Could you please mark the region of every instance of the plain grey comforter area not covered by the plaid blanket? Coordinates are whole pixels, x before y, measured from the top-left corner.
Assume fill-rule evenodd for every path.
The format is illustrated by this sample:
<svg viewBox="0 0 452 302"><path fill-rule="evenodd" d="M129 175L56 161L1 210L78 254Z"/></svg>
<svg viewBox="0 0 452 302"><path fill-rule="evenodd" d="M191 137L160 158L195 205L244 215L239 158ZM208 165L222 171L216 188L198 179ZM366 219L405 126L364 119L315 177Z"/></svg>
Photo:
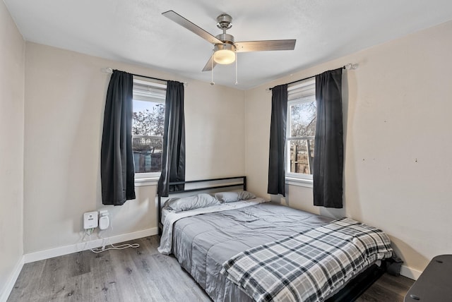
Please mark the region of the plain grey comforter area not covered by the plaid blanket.
<svg viewBox="0 0 452 302"><path fill-rule="evenodd" d="M213 301L252 301L220 273L222 264L243 250L332 220L269 202L184 217L174 222L172 253Z"/></svg>

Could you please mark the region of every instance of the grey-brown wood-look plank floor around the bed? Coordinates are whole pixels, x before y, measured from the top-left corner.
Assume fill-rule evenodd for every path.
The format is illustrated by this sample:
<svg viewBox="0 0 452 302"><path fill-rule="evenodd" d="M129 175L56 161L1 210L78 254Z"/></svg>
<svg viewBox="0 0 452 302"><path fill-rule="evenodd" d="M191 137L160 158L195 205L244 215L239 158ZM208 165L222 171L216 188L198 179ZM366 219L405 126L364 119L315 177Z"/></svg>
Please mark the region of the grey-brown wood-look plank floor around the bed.
<svg viewBox="0 0 452 302"><path fill-rule="evenodd" d="M11 291L16 301L211 301L173 256L158 253L158 236L139 248L89 250L27 263ZM413 281L384 274L357 302L402 302Z"/></svg>

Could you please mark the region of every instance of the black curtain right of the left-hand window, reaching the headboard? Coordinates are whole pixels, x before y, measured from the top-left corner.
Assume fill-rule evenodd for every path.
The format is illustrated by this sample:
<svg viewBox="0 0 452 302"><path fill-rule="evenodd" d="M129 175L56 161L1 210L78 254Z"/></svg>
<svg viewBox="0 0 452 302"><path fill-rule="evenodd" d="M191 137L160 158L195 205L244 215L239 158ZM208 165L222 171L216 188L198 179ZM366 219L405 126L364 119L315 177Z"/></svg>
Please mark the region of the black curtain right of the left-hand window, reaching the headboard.
<svg viewBox="0 0 452 302"><path fill-rule="evenodd" d="M168 196L169 192L184 188L183 185L169 186L174 181L185 181L184 84L169 80L165 101L162 174L157 193Z"/></svg>

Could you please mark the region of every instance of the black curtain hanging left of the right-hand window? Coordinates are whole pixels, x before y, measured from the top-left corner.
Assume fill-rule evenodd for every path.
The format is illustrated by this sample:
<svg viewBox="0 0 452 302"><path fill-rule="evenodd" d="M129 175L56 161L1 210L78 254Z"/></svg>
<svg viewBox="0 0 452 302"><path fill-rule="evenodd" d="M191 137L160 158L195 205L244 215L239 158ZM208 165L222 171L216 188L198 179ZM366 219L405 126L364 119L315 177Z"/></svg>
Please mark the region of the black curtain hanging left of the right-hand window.
<svg viewBox="0 0 452 302"><path fill-rule="evenodd" d="M268 157L269 194L285 196L285 141L287 121L287 85L272 88L270 152Z"/></svg>

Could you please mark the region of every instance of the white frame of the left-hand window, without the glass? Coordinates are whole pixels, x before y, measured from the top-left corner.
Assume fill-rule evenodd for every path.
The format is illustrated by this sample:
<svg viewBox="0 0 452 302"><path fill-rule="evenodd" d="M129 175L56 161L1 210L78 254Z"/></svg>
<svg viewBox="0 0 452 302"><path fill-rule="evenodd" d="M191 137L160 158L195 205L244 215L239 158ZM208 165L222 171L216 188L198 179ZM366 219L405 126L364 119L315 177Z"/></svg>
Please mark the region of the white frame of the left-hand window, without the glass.
<svg viewBox="0 0 452 302"><path fill-rule="evenodd" d="M157 81L157 80L150 80L148 78L136 78L133 77L133 99L134 101L141 101L141 102L153 102L157 104L164 104L165 105L165 97L162 99L159 95L153 94L152 92L149 93L149 95L146 95L145 92L138 92L135 89L135 84L141 85L141 86L148 86L151 90L165 90L165 96L166 96L166 89L167 84L164 81ZM132 138L133 138L132 134ZM138 135L139 136L139 135ZM160 135L153 135L153 136L160 136ZM163 138L163 135L162 135ZM160 179L160 175L162 174L162 171L158 172L144 172L144 173L137 173L135 172L135 186L149 186L157 184L158 179Z"/></svg>

